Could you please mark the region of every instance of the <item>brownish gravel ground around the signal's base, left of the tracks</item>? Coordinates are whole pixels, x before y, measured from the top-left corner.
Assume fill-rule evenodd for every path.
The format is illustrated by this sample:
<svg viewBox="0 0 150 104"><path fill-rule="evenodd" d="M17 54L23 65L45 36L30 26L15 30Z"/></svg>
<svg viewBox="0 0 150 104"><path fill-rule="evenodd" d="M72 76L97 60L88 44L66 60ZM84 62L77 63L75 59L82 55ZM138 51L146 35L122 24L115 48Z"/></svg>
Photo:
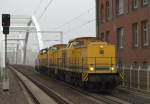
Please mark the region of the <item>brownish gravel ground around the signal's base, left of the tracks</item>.
<svg viewBox="0 0 150 104"><path fill-rule="evenodd" d="M0 87L0 104L28 104L28 101L19 85L17 77L9 70L10 90L3 92Z"/></svg>

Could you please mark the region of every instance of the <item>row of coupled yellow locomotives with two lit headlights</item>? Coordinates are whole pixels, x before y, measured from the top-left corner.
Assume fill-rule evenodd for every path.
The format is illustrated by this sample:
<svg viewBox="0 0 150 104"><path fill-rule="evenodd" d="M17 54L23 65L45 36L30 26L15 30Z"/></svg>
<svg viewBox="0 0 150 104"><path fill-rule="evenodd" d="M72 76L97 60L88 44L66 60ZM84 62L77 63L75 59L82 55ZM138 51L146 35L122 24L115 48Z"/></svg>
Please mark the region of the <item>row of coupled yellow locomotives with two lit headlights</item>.
<svg viewBox="0 0 150 104"><path fill-rule="evenodd" d="M116 69L115 45L97 40L95 37L80 37L64 44L54 45L39 60L47 67L50 76L68 83L92 89L113 89L121 82ZM43 63L42 63L43 61Z"/></svg>

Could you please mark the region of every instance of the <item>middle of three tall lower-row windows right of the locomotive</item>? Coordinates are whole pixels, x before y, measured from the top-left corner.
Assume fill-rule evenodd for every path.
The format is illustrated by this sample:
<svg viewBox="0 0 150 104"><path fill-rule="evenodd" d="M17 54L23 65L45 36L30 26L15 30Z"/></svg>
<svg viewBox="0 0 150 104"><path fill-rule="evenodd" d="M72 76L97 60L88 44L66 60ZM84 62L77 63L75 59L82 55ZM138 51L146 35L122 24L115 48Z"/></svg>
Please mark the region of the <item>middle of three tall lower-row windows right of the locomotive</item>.
<svg viewBox="0 0 150 104"><path fill-rule="evenodd" d="M132 34L133 34L133 46L138 47L139 43L138 23L132 25Z"/></svg>

